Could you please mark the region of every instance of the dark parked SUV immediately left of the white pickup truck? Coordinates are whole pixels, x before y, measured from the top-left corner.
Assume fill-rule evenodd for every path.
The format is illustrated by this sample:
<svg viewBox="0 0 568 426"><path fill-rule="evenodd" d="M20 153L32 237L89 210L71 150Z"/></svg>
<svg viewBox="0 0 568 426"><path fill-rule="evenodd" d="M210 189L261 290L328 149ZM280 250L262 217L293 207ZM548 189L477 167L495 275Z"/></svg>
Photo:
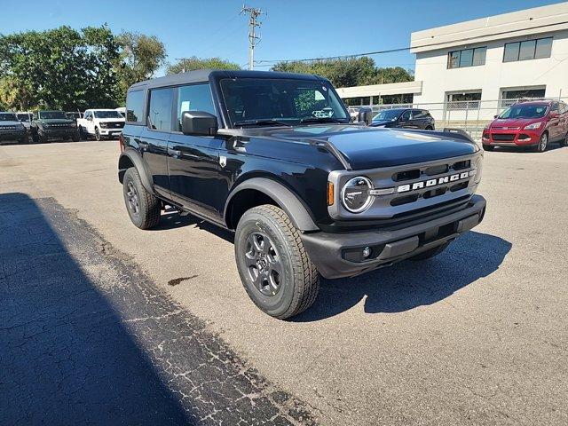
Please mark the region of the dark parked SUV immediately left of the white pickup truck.
<svg viewBox="0 0 568 426"><path fill-rule="evenodd" d="M36 111L30 131L34 142L47 142L49 138L79 141L75 121L63 111Z"/></svg>

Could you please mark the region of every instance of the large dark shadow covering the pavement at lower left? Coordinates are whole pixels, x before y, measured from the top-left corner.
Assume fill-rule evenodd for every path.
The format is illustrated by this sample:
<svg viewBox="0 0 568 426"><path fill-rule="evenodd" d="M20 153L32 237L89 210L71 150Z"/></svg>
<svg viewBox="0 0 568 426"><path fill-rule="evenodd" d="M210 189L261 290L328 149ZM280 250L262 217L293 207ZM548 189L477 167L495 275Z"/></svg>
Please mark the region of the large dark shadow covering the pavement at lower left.
<svg viewBox="0 0 568 426"><path fill-rule="evenodd" d="M53 226L66 218L50 223L43 207L0 194L0 422L187 424L190 414L59 239Z"/></svg>

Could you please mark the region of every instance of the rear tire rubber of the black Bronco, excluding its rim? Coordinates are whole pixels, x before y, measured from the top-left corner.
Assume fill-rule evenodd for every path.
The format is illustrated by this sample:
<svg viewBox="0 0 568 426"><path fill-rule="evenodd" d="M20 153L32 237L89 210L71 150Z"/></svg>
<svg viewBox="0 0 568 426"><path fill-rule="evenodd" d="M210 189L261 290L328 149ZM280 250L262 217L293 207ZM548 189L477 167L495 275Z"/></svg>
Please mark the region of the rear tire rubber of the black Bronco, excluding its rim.
<svg viewBox="0 0 568 426"><path fill-rule="evenodd" d="M131 184L131 185L130 185ZM133 209L129 191L136 191L138 212ZM130 220L140 229L151 229L160 223L162 203L152 193L148 193L138 174L138 170L130 167L124 173L122 180L122 194Z"/></svg>

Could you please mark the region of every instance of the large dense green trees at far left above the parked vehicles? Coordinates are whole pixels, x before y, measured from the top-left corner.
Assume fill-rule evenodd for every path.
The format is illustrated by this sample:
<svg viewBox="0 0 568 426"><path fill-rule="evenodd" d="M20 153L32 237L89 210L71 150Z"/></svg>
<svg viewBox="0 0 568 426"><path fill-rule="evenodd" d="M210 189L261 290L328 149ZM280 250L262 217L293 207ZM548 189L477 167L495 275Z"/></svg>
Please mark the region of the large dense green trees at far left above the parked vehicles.
<svg viewBox="0 0 568 426"><path fill-rule="evenodd" d="M114 106L117 58L106 26L0 36L0 99L14 109Z"/></svg>

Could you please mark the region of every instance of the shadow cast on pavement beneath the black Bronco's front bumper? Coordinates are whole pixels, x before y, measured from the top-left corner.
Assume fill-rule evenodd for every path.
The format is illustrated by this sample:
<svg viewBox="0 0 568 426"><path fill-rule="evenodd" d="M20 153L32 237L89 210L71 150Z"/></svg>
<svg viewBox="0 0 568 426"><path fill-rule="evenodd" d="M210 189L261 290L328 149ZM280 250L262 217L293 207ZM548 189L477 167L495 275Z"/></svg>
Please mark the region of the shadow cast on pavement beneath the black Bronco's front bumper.
<svg viewBox="0 0 568 426"><path fill-rule="evenodd" d="M315 303L292 320L333 317L363 299L366 313L405 312L436 304L495 272L511 247L500 237L470 231L426 261L404 261L351 279L322 280Z"/></svg>

